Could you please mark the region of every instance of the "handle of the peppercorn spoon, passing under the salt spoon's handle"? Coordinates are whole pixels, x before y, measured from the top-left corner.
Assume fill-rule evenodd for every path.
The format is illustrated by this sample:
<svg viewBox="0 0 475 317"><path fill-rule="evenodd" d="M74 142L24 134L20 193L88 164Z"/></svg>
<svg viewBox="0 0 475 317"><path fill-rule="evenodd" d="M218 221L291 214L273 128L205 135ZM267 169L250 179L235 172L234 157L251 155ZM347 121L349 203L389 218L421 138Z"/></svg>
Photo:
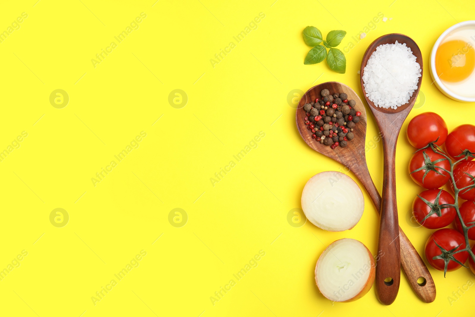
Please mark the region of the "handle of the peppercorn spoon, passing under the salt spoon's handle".
<svg viewBox="0 0 475 317"><path fill-rule="evenodd" d="M349 166L349 168L363 184L364 188L370 195L376 210L380 212L381 196L371 179L368 166L366 164L358 164L357 166ZM421 259L404 231L402 231L401 227L399 227L399 243L401 249L401 268L409 281L409 285L420 300L424 303L432 303L436 299L436 286L434 279L432 279L426 264ZM424 278L425 283L422 281L418 284L419 278Z"/></svg>

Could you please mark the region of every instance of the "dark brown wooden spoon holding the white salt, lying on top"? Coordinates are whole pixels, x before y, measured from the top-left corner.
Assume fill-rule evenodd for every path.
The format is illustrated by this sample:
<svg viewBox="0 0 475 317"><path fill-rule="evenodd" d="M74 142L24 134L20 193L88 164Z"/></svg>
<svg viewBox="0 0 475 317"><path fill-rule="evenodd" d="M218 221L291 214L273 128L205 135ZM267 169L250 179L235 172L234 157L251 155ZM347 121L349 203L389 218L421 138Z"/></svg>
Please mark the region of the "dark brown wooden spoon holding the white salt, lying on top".
<svg viewBox="0 0 475 317"><path fill-rule="evenodd" d="M404 120L409 115L414 102L419 93L420 84L422 81L419 77L416 91L412 94L409 102L399 106L397 109L385 109L375 106L374 103L366 96L366 91L363 85L364 67L366 66L371 54L381 44L406 43L416 57L416 61L422 67L422 55L419 47L412 38L403 34L387 34L374 40L366 49L363 56L360 69L361 89L365 96L366 102L370 106L376 123L380 128L383 154L384 154L384 175L383 175L383 190L380 216L380 232L378 242L378 252L382 252L384 256L377 259L376 263L376 288L378 291L378 298L385 305L390 305L396 299L399 290L399 263L400 250L399 240L400 234L398 230L398 205L396 200L396 143L398 141L399 131L404 123ZM386 70L388 71L388 70ZM426 268L427 269L427 268ZM427 279L426 279L427 280Z"/></svg>

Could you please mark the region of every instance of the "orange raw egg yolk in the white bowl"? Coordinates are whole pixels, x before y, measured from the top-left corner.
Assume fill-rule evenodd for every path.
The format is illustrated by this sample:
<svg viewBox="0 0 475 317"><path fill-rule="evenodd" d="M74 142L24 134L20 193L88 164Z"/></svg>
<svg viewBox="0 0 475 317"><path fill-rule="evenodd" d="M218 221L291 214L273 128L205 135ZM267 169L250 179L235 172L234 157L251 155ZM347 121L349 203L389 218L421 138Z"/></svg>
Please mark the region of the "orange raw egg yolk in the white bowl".
<svg viewBox="0 0 475 317"><path fill-rule="evenodd" d="M448 82L459 82L472 74L475 68L475 50L470 43L455 39L437 48L437 76Z"/></svg>

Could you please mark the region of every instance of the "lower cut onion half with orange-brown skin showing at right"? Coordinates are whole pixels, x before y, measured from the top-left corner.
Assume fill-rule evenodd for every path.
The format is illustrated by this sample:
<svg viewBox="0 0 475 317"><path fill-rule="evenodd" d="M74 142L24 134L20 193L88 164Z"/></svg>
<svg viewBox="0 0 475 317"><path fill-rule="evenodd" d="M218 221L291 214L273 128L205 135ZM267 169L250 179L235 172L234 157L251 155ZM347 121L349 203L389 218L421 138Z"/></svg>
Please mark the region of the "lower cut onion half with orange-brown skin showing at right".
<svg viewBox="0 0 475 317"><path fill-rule="evenodd" d="M335 302L363 297L373 285L376 263L370 250L358 240L336 240L326 248L315 267L320 293Z"/></svg>

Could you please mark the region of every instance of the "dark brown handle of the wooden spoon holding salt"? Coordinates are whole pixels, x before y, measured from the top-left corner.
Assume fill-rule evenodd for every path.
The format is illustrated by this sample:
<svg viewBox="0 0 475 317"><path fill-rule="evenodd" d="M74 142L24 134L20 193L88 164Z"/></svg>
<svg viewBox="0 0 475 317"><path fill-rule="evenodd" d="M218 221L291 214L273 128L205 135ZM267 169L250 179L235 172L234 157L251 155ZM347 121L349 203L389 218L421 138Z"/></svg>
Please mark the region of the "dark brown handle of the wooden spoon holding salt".
<svg viewBox="0 0 475 317"><path fill-rule="evenodd" d="M390 305L398 295L401 265L396 202L396 142L387 141L383 137L383 152L383 192L375 283L381 303Z"/></svg>

